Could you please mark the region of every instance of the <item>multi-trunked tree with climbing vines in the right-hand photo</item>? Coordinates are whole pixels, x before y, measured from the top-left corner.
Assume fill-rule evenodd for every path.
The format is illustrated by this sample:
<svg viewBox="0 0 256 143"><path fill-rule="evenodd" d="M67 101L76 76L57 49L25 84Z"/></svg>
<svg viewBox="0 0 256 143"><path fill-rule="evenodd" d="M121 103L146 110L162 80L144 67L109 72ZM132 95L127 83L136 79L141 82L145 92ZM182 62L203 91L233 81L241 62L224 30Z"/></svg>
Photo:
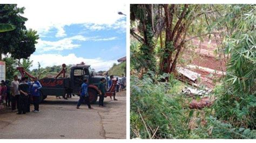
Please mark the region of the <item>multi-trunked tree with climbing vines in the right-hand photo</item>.
<svg viewBox="0 0 256 143"><path fill-rule="evenodd" d="M172 73L181 51L190 46L188 41L218 33L215 31L220 29L207 24L210 18L215 18L220 8L220 5L208 4L131 5L130 31L132 37L142 44L137 53L144 62L142 67L155 71L157 60L160 73ZM160 49L156 54L159 38Z"/></svg>

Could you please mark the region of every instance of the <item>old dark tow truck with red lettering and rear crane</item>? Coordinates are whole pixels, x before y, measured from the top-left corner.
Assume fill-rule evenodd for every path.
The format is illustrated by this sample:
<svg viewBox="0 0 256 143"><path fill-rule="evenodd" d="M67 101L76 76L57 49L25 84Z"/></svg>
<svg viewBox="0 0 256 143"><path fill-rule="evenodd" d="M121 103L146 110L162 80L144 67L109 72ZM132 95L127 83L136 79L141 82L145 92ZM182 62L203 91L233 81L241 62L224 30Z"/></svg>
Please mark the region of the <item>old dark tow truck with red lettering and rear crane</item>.
<svg viewBox="0 0 256 143"><path fill-rule="evenodd" d="M17 67L17 70L19 71L19 73L21 73L22 77L24 77L25 75L30 78L35 77L25 71L23 67ZM38 80L42 85L42 88L40 89L40 102L47 98L47 96L64 96L68 93L79 96L80 87L83 83L83 79L86 78L89 83L88 93L90 103L96 103L99 96L98 84L100 82L100 79L103 77L104 76L94 76L90 65L85 65L84 62L72 66L70 69L70 76L66 77L66 65L63 63L62 70L59 71L56 77L45 77ZM107 78L104 78L107 81ZM116 89L116 85L117 81L112 80L112 85L107 90L105 97L113 96L115 94L114 90Z"/></svg>

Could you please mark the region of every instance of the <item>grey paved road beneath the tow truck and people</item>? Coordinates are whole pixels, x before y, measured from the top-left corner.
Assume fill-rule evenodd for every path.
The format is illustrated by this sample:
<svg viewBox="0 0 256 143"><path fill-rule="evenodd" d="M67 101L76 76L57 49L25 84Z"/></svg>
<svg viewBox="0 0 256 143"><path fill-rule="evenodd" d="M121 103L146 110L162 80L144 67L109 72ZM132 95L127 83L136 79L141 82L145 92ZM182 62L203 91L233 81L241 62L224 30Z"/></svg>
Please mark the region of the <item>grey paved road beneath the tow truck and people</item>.
<svg viewBox="0 0 256 143"><path fill-rule="evenodd" d="M39 113L0 114L0 139L125 139L126 96L118 101L104 99L106 108L86 105L76 109L79 97L63 100L49 96L39 106ZM33 106L31 106L31 109Z"/></svg>

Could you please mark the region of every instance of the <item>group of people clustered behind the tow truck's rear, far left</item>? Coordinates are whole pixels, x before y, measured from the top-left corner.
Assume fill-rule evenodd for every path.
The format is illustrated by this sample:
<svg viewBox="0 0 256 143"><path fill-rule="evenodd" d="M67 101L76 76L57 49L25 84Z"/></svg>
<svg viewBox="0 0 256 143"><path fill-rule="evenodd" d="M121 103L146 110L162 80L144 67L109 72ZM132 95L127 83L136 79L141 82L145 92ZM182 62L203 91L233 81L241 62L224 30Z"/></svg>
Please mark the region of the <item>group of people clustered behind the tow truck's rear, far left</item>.
<svg viewBox="0 0 256 143"><path fill-rule="evenodd" d="M15 75L10 85L8 80L1 81L0 103L3 104L4 108L17 112L17 115L30 112L31 103L34 105L32 112L39 112L40 88L42 88L42 85L37 77L33 77L30 81L29 77L19 79Z"/></svg>

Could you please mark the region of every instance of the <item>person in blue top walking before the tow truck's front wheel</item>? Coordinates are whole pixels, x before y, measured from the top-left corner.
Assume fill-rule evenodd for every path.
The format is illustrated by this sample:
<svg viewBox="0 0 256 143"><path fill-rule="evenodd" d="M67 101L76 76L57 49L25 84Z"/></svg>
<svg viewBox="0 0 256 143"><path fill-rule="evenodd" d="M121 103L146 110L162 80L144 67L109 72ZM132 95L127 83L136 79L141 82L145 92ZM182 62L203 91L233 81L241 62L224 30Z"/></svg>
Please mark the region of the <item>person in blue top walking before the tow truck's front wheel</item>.
<svg viewBox="0 0 256 143"><path fill-rule="evenodd" d="M82 104L83 101L85 101L85 103L88 105L89 109L93 109L91 107L90 101L89 101L89 94L88 94L88 85L87 85L87 79L85 78L84 83L81 86L81 92L80 92L80 98L79 101L77 103L77 109L80 109L79 106Z"/></svg>

